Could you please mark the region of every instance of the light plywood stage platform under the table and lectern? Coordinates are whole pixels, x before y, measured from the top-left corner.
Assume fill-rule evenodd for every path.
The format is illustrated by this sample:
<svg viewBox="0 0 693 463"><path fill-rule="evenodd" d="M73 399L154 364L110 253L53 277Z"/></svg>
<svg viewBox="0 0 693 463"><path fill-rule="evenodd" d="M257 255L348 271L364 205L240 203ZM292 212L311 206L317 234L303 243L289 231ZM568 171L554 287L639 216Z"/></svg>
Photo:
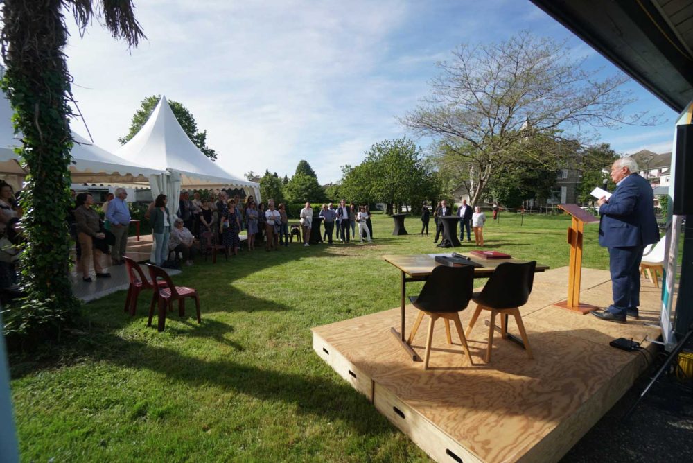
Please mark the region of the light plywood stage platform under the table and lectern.
<svg viewBox="0 0 693 463"><path fill-rule="evenodd" d="M399 308L313 329L313 349L376 409L439 462L554 462L633 385L649 365L649 352L626 352L608 342L645 335L657 338L660 290L642 280L640 320L627 324L598 320L552 304L565 299L568 268L538 273L527 305L520 308L534 360L496 333L491 363L484 363L489 312L468 337L469 365L453 328L447 344L444 324L433 336L429 370L412 362L390 327ZM392 288L397 292L398 288ZM608 306L606 270L583 269L581 302ZM466 328L475 308L460 314ZM416 309L407 306L407 335ZM496 321L498 323L498 320ZM428 320L414 339L423 357ZM517 333L514 321L509 331Z"/></svg>

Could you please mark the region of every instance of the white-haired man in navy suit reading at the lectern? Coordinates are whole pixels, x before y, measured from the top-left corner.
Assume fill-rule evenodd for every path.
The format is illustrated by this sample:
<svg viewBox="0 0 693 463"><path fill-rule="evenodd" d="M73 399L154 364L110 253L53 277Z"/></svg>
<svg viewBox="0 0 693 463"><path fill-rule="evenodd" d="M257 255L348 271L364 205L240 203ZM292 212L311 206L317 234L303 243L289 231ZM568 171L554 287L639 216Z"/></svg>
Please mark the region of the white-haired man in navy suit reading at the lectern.
<svg viewBox="0 0 693 463"><path fill-rule="evenodd" d="M611 178L617 185L611 198L600 198L599 245L608 247L613 304L592 315L610 322L638 318L640 261L646 245L659 241L652 186L638 175L630 157L617 159Z"/></svg>

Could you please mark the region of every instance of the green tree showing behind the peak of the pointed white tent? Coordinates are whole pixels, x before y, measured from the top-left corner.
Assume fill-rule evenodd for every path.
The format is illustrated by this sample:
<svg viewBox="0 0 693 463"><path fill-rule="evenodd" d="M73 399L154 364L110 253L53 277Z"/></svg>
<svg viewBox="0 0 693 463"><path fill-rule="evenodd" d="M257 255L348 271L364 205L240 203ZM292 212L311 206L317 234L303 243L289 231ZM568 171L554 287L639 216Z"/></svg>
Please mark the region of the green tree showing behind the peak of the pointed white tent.
<svg viewBox="0 0 693 463"><path fill-rule="evenodd" d="M137 132L139 132L142 126L147 123L149 116L151 116L152 112L154 112L155 108L159 104L159 100L161 100L161 95L148 96L142 100L139 109L135 111L134 116L132 116L130 132L128 132L125 137L118 139L118 141L121 142L121 145L128 143L132 137L137 135ZM198 130L198 123L195 122L193 114L188 111L188 108L182 105L182 103L168 100L168 104L173 111L175 119L178 121L190 141L192 141L193 144L197 146L205 156L209 157L209 159L212 161L216 161L216 151L207 146L207 130L203 130L202 132Z"/></svg>

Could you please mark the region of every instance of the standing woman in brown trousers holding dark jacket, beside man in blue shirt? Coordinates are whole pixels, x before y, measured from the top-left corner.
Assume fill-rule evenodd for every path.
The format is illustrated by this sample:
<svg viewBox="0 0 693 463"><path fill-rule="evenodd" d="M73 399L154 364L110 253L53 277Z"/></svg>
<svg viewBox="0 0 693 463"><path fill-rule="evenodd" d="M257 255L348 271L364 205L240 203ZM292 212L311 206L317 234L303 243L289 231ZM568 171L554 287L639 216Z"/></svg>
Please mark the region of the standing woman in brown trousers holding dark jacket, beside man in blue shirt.
<svg viewBox="0 0 693 463"><path fill-rule="evenodd" d="M77 222L77 239L82 247L82 281L91 283L89 277L89 261L94 262L96 278L108 278L111 274L101 268L101 251L94 247L94 240L103 240L105 235L100 231L98 213L91 209L94 198L89 193L77 195L75 203L75 220Z"/></svg>

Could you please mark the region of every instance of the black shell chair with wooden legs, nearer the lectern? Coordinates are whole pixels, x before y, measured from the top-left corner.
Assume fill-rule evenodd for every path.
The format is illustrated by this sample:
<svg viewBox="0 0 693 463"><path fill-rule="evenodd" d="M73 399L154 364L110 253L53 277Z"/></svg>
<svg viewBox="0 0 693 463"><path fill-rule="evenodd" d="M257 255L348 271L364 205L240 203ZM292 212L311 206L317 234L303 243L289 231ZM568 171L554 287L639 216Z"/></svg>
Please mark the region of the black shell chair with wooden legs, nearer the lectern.
<svg viewBox="0 0 693 463"><path fill-rule="evenodd" d="M504 262L495 268L491 278L486 282L481 292L475 292L472 300L477 308L469 320L466 335L471 333L474 324L482 310L491 311L491 323L489 328L489 344L486 347L486 363L491 362L491 349L493 348L493 331L495 331L495 315L500 313L500 332L503 339L508 337L507 315L513 315L520 330L527 355L532 358L532 349L529 347L525 325L520 316L520 306L527 303L529 293L532 292L534 283L534 269L536 261L527 263Z"/></svg>

